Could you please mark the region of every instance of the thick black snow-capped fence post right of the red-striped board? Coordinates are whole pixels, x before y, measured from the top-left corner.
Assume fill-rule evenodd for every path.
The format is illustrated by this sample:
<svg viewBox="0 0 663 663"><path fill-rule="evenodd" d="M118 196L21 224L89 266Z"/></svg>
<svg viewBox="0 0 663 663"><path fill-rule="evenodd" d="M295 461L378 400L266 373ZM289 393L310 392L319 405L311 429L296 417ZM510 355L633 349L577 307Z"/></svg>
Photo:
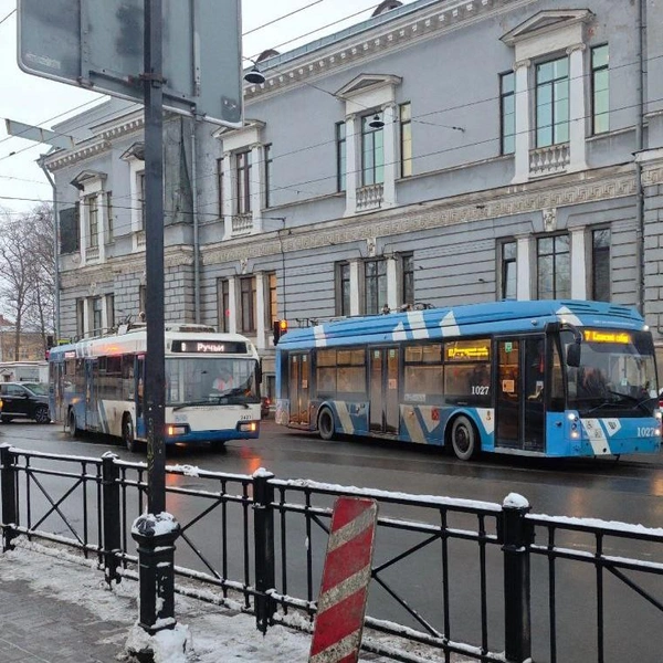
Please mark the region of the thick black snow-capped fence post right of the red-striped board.
<svg viewBox="0 0 663 663"><path fill-rule="evenodd" d="M523 663L532 653L529 546L534 528L525 520L529 503L511 493L502 505L504 554L504 641L508 663Z"/></svg>

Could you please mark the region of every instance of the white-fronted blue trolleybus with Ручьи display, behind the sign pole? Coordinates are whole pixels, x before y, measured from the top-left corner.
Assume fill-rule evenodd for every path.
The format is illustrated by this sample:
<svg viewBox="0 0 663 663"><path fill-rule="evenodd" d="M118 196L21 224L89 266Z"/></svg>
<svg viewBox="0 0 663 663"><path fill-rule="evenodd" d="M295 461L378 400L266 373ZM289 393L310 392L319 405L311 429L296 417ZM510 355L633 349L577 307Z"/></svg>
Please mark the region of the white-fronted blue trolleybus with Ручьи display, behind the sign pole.
<svg viewBox="0 0 663 663"><path fill-rule="evenodd" d="M166 327L166 444L257 438L260 364L253 344L202 325ZM71 436L82 431L147 440L145 325L52 348L50 410Z"/></svg>

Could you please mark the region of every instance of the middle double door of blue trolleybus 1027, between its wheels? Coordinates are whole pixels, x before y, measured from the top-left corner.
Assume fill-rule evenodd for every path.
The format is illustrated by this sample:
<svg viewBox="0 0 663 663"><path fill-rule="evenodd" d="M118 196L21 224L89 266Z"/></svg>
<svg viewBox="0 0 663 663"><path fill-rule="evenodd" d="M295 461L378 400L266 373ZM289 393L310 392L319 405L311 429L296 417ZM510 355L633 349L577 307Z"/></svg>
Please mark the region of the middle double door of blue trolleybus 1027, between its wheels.
<svg viewBox="0 0 663 663"><path fill-rule="evenodd" d="M370 430L398 434L398 348L370 349Z"/></svg>

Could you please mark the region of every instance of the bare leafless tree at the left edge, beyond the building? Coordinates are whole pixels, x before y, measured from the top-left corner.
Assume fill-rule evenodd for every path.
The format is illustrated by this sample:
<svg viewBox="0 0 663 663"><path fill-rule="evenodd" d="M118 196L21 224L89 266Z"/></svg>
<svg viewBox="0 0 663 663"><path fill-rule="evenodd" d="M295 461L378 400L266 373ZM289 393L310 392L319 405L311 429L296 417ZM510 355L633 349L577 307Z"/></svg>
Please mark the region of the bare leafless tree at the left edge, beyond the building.
<svg viewBox="0 0 663 663"><path fill-rule="evenodd" d="M42 203L31 212L0 214L0 301L14 319L14 357L22 332L40 332L44 349L54 328L53 213Z"/></svg>

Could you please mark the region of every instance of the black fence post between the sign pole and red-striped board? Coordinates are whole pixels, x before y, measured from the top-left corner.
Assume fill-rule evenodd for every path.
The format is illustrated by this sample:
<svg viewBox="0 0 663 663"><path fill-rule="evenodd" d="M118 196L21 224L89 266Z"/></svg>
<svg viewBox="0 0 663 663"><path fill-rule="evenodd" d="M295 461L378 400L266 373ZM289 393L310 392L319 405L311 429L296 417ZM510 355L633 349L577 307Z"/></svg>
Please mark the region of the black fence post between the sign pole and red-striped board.
<svg viewBox="0 0 663 663"><path fill-rule="evenodd" d="M271 472L253 474L253 540L255 543L255 625L261 633L272 625L275 601L267 594L274 589L274 486Z"/></svg>

